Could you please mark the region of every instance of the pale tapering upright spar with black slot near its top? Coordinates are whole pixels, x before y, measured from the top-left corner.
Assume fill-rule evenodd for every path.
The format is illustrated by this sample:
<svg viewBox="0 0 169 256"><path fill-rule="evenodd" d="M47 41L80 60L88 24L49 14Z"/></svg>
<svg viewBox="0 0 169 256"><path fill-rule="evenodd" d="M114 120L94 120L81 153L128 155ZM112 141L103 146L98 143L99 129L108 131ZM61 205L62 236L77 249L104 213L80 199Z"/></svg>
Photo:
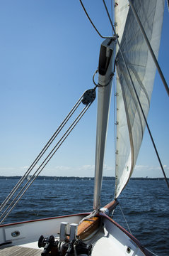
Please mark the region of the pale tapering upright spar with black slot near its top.
<svg viewBox="0 0 169 256"><path fill-rule="evenodd" d="M107 124L110 110L110 95L112 90L112 65L115 63L115 40L106 39L100 47L98 65L98 114L95 146L95 186L93 208L100 208L100 192L103 179L103 161Z"/></svg>

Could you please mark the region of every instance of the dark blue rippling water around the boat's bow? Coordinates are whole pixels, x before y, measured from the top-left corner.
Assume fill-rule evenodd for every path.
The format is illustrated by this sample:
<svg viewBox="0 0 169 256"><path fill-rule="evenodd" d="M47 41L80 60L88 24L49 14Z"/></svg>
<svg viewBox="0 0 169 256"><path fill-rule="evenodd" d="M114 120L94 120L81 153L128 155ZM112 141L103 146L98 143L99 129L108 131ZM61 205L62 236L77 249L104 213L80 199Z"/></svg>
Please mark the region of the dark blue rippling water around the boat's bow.
<svg viewBox="0 0 169 256"><path fill-rule="evenodd" d="M0 179L0 203L17 181ZM93 184L93 179L36 180L4 223L91 212ZM102 206L113 200L114 188L115 181L103 180ZM169 191L165 181L131 180L119 202L113 219L127 230L129 225L132 235L148 250L169 255Z"/></svg>

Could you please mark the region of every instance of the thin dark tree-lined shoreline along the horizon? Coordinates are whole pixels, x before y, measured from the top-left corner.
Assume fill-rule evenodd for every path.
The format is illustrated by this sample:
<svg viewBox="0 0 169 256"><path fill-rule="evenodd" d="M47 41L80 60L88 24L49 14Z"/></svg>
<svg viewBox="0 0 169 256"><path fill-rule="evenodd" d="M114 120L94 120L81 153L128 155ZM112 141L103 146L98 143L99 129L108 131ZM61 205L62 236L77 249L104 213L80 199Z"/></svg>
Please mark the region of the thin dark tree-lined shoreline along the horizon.
<svg viewBox="0 0 169 256"><path fill-rule="evenodd" d="M30 176L31 177L31 176ZM21 176L0 176L0 179L20 179ZM76 176L38 176L38 180L94 180L94 177L76 177ZM131 180L164 180L164 178L144 178L144 177L136 177L136 178L130 178ZM103 180L115 180L115 177L110 176L103 176Z"/></svg>

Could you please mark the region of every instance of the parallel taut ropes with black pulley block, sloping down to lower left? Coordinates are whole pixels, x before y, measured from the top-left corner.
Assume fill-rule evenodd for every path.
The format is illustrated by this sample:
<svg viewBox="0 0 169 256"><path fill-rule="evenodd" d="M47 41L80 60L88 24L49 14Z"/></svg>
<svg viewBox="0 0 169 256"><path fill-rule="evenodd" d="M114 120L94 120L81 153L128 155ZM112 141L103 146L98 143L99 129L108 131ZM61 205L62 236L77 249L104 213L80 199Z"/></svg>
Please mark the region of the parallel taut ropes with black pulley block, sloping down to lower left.
<svg viewBox="0 0 169 256"><path fill-rule="evenodd" d="M66 118L64 119L64 121L62 122L62 124L60 124L60 126L58 127L58 129L56 130L56 132L54 132L54 134L52 135L52 137L49 139L49 141L47 142L47 144L45 144L44 148L42 149L42 151L40 151L40 154L38 154L37 158L35 159L35 161L33 161L33 164L30 165L29 169L25 172L25 174L23 175L23 177L18 181L18 183L16 184L16 186L12 189L11 193L8 194L8 196L6 197L6 199L4 200L3 203L1 203L0 206L0 212L6 207L6 209L4 210L4 213L1 214L0 216L0 224L2 224L4 222L4 220L6 219L6 217L9 215L9 213L11 213L11 210L13 210L13 208L16 206L16 204L18 203L18 201L20 201L20 199L22 198L22 196L25 194L25 192L28 190L28 188L30 187L30 185L33 183L33 181L35 181L35 178L37 178L37 176L40 175L40 172L45 168L45 166L47 165L47 163L50 161L50 159L52 159L52 156L54 156L54 154L57 152L57 150L59 149L59 147L62 145L62 143L64 142L64 140L66 139L66 137L69 136L69 134L71 133L71 131L74 129L74 127L76 126L76 124L78 124L78 122L80 121L81 117L83 117L83 114L86 113L86 111L88 110L89 107L91 107L91 104L93 103L93 101L95 100L95 88L97 86L94 87L94 89L91 90L87 90L86 92L83 93L83 95L81 95L81 97L79 98L79 100L76 102L76 104L74 105L74 107L71 109L71 111L69 112L69 114L66 116ZM30 176L30 179L25 183L25 185L21 188L21 185L23 183L23 181L25 181L25 179L28 177L28 175L30 174L31 171L33 171L33 169L36 167L37 163L40 161L40 159L42 158L42 156L45 154L45 152L47 151L47 149L49 148L49 146L52 144L52 142L54 142L54 139L56 139L56 137L59 135L59 133L62 131L62 129L64 128L65 124L69 121L69 119L71 118L71 116L74 114L74 112L76 112L76 110L78 109L78 107L81 105L81 103L83 103L85 105L85 107L83 107L83 109L81 110L81 112L77 115L77 117L74 119L74 121L70 124L69 128L66 129L66 132L64 132L64 135L61 137L61 139L59 139L59 141L55 144L55 146L53 147L53 149L49 152L49 154L47 154L47 156L45 157L45 159L42 161L42 163L40 164L40 166L37 168L37 170L33 173L32 176ZM21 188L21 189L20 189ZM20 191L18 191L20 189ZM16 193L16 191L18 192L17 195L14 197L14 194ZM14 197L14 198L13 198ZM13 200L12 200L13 198ZM11 201L11 203L9 203ZM9 203L9 204L8 204ZM7 206L8 205L8 206Z"/></svg>

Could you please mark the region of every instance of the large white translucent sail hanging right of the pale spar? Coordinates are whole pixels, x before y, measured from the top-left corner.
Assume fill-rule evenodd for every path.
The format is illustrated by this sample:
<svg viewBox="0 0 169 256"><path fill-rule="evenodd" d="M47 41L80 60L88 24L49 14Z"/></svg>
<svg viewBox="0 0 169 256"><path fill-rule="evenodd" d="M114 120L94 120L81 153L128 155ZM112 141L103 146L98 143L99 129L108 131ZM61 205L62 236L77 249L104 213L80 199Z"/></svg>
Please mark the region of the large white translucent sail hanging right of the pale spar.
<svg viewBox="0 0 169 256"><path fill-rule="evenodd" d="M153 63L148 47L141 34L132 9L120 6L128 1L115 1L115 23L119 34L120 46L132 76L136 92L139 96L144 114L147 117L153 80L156 67ZM161 28L163 23L163 0L134 0L134 8L141 20L146 36L158 58ZM126 9L127 18L120 17L119 8ZM123 21L122 21L123 19ZM124 20L125 26L124 26ZM123 28L118 26L122 24ZM141 141L145 129L144 117L141 114L138 100L134 93L132 82L124 66L120 50L117 53L117 143L116 143L116 183L115 198L122 192L129 181L139 154Z"/></svg>

